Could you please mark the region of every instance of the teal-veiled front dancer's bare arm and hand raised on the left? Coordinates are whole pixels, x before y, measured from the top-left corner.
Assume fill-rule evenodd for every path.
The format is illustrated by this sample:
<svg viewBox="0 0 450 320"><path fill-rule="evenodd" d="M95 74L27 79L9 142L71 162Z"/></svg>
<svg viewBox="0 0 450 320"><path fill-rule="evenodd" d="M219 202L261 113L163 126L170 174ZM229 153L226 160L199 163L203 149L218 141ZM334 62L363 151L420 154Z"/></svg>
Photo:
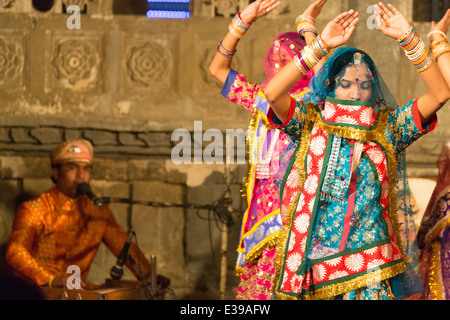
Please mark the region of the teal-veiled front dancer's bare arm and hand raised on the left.
<svg viewBox="0 0 450 320"><path fill-rule="evenodd" d="M321 34L328 50L337 48L346 43L358 23L358 12L350 10L341 13L335 19L327 24ZM289 115L291 98L288 94L289 89L301 78L302 73L297 67L295 61L289 62L280 70L267 84L264 94L269 101L274 113L281 121L285 121Z"/></svg>

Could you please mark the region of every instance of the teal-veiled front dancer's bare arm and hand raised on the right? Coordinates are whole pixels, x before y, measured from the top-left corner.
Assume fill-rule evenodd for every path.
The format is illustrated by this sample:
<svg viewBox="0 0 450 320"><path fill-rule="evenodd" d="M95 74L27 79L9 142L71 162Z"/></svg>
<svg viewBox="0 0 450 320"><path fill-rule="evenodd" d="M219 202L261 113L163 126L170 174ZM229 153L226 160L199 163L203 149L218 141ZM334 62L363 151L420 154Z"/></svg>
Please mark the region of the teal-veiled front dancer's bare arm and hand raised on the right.
<svg viewBox="0 0 450 320"><path fill-rule="evenodd" d="M406 17L397 10L397 8L391 4L388 4L388 7L386 7L381 2L375 5L375 8L375 14L377 15L380 30L383 34L396 40L402 38L409 39L412 35L412 32L408 32L411 28L411 24ZM406 52L408 53L408 51ZM418 51L417 53L420 52ZM426 54L427 53L424 52L424 59L426 59ZM417 100L422 123L427 122L432 116L434 116L450 98L450 90L447 82L433 59L431 59L428 67L425 65L424 68L425 70L419 69L419 71L422 82L426 88L426 93L420 96Z"/></svg>

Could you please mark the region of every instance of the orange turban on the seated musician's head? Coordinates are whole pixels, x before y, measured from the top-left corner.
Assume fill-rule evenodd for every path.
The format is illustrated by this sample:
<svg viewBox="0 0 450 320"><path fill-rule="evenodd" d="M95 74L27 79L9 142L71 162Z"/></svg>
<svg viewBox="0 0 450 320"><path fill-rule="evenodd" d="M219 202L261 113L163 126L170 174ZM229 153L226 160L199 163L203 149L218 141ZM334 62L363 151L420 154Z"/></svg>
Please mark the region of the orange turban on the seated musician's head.
<svg viewBox="0 0 450 320"><path fill-rule="evenodd" d="M52 165L64 162L81 161L92 163L94 148L87 140L69 140L57 145L50 154Z"/></svg>

